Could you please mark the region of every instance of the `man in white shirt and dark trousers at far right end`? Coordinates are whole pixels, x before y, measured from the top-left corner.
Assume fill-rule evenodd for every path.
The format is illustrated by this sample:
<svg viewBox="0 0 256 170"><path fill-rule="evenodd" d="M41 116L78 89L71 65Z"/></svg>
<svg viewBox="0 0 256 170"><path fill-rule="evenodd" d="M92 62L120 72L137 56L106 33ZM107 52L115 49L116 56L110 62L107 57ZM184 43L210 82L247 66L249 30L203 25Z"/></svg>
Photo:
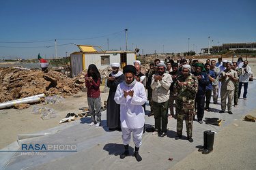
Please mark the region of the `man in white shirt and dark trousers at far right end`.
<svg viewBox="0 0 256 170"><path fill-rule="evenodd" d="M242 74L240 75L239 78L239 89L238 89L238 99L240 98L241 95L241 89L242 89L242 84L244 84L244 95L243 98L244 100L246 99L247 95L247 88L248 88L248 81L251 75L251 67L248 66L248 61L244 61L244 65L241 67Z"/></svg>

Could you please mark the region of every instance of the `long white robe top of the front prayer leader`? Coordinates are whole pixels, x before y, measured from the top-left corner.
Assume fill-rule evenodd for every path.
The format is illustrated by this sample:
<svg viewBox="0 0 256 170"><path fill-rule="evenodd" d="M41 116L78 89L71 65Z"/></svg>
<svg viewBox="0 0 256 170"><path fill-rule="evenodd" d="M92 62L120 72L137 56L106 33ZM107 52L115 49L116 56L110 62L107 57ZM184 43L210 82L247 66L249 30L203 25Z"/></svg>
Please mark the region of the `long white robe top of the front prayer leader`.
<svg viewBox="0 0 256 170"><path fill-rule="evenodd" d="M124 90L134 90L133 97L124 97ZM145 113L142 105L147 101L143 84L137 82L134 86L120 83L117 86L114 100L120 105L120 120L122 128L139 129L144 126Z"/></svg>

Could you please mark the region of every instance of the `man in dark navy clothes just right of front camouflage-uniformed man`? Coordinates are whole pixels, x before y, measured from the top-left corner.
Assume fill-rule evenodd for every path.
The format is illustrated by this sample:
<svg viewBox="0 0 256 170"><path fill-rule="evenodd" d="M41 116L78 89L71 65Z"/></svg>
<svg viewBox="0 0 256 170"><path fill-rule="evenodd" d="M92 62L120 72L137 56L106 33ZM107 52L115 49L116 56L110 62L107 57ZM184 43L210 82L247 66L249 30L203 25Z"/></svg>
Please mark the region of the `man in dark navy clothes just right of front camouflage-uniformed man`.
<svg viewBox="0 0 256 170"><path fill-rule="evenodd" d="M209 84L208 75L205 73L205 69L201 63L195 64L195 72L192 73L198 80L198 91L195 97L195 103L197 105L197 121L203 123L204 103L206 86Z"/></svg>

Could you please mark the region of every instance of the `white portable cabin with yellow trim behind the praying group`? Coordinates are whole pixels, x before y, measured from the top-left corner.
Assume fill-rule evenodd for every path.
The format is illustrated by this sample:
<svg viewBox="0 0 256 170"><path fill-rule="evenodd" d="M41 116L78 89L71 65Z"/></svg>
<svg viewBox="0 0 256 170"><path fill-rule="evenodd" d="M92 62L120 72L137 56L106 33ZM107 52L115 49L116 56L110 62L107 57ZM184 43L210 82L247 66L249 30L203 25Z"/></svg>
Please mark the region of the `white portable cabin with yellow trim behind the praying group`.
<svg viewBox="0 0 256 170"><path fill-rule="evenodd" d="M104 51L100 46L76 45L80 52L70 54L70 63L72 75L78 75L81 71L87 69L90 64L95 64L98 69L105 69L111 63L120 63L123 68L126 65L133 65L136 61L136 49L131 51Z"/></svg>

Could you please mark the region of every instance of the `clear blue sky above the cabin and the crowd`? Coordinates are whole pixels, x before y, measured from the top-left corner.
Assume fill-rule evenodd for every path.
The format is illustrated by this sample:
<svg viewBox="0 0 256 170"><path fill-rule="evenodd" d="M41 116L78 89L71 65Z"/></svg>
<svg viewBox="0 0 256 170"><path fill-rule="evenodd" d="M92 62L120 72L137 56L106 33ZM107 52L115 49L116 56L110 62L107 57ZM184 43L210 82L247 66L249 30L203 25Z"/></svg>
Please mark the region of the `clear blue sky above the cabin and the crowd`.
<svg viewBox="0 0 256 170"><path fill-rule="evenodd" d="M58 57L79 51L74 44L108 50L107 38L109 50L126 50L124 29L128 50L140 54L187 52L188 38L197 52L209 36L210 46L255 42L255 7L255 0L2 0L0 59L55 57L55 39Z"/></svg>

